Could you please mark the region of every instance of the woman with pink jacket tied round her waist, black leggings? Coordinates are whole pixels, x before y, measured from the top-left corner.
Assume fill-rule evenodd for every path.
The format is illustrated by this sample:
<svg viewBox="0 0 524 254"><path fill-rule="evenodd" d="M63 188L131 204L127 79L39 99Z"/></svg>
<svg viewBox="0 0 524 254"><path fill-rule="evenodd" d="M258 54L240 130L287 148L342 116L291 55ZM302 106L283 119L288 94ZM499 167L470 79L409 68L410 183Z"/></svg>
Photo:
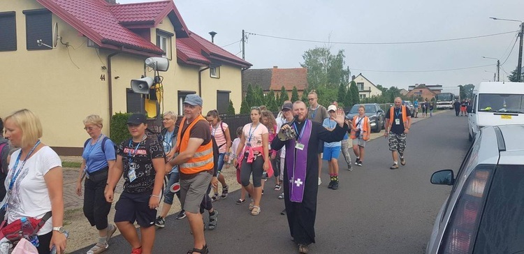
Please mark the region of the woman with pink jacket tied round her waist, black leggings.
<svg viewBox="0 0 524 254"><path fill-rule="evenodd" d="M260 200L262 198L262 172L269 169L269 133L261 122L260 107L251 108L251 124L246 124L242 129L242 137L235 154L241 158L238 162L235 158L233 165L241 163L240 178L242 186L253 197L249 204L252 215L260 214ZM249 176L253 175L253 184L249 182Z"/></svg>

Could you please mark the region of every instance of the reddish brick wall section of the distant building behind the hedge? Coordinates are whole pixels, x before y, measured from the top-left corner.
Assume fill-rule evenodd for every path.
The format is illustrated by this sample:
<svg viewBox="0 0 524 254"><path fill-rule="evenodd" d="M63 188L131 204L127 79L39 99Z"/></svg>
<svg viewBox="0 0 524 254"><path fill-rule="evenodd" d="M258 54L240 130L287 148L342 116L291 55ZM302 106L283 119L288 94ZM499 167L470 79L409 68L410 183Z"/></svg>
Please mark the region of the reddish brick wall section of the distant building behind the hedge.
<svg viewBox="0 0 524 254"><path fill-rule="evenodd" d="M284 86L286 90L304 90L307 87L307 69L306 68L273 68L271 76L271 89L279 90Z"/></svg>

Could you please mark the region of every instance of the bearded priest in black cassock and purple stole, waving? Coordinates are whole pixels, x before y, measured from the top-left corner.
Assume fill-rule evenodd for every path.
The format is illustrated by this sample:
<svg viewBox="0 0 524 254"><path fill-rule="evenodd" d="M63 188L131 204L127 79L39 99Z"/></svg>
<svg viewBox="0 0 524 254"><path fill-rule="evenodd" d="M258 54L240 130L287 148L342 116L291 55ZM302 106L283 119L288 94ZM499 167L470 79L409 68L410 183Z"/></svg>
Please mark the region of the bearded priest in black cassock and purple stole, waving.
<svg viewBox="0 0 524 254"><path fill-rule="evenodd" d="M293 116L296 120L284 124L281 132L293 129L295 138L280 140L275 138L272 149L286 146L284 164L284 201L289 231L293 241L298 244L300 253L307 253L307 246L315 242L314 223L316 217L316 193L319 189L319 142L335 142L344 138L347 124L344 125L344 111L339 109L333 120L337 122L334 130L326 130L321 124L307 119L305 103L293 103Z"/></svg>

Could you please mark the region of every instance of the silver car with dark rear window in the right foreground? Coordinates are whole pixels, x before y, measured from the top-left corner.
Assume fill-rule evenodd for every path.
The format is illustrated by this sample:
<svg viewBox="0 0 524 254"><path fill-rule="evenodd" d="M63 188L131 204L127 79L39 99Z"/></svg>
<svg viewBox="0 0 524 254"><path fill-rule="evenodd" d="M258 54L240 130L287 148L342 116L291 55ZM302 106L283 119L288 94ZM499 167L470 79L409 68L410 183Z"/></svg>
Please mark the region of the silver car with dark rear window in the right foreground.
<svg viewBox="0 0 524 254"><path fill-rule="evenodd" d="M524 253L524 125L479 130L457 176L432 174L453 186L426 253Z"/></svg>

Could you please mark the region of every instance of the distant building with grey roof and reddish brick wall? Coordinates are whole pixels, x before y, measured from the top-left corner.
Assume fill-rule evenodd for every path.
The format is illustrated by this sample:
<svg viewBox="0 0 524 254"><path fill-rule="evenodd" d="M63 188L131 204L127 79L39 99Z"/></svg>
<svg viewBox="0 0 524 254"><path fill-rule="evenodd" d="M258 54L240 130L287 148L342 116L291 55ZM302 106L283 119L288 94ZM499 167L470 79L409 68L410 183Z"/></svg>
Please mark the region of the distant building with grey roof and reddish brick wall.
<svg viewBox="0 0 524 254"><path fill-rule="evenodd" d="M307 69L273 66L273 68L245 70L242 87L247 89L249 84L262 87L265 94L272 89L275 95L280 94L284 87L289 98L291 98L293 87L296 87L298 96L302 96L304 90L307 89Z"/></svg>

